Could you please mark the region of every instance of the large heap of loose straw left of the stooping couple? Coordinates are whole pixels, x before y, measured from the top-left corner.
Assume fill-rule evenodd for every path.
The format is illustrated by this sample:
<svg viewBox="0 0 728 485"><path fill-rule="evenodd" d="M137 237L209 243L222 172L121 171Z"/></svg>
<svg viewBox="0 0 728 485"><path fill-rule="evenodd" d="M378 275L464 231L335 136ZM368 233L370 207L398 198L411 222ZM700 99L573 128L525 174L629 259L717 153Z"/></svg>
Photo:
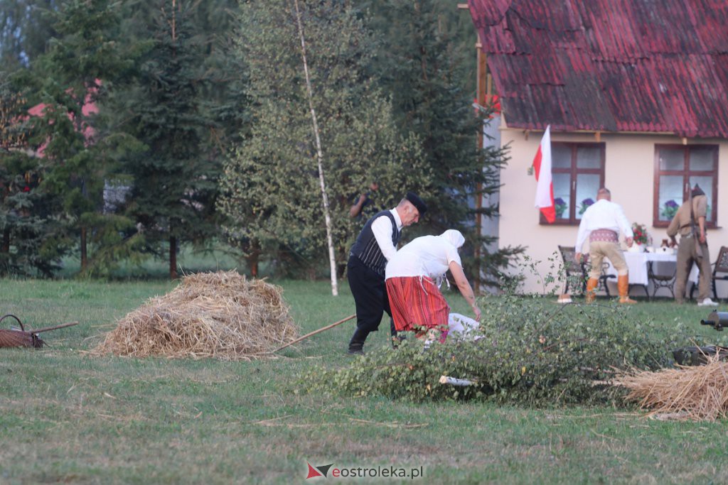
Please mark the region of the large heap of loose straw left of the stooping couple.
<svg viewBox="0 0 728 485"><path fill-rule="evenodd" d="M92 353L250 360L295 340L279 286L229 271L182 278L117 322Z"/></svg>

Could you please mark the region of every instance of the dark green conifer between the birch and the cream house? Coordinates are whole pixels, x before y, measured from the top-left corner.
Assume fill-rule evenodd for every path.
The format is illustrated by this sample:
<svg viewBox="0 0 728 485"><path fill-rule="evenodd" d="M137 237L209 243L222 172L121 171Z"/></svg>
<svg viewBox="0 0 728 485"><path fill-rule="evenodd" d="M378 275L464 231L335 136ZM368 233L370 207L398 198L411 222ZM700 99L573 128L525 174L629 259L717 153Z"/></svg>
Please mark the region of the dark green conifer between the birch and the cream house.
<svg viewBox="0 0 728 485"><path fill-rule="evenodd" d="M475 52L470 18L454 4L434 0L371 0L371 25L381 36L379 63L373 66L381 87L392 93L397 121L422 139L424 161L434 174L431 211L417 229L438 233L457 228L464 233L472 254L470 272L486 274L496 284L499 270L521 248L488 254L492 238L475 228L475 215L497 217L498 207L475 209L478 194L499 190L499 169L505 151L478 148L478 135L488 112L474 116ZM475 249L479 251L475 251Z"/></svg>

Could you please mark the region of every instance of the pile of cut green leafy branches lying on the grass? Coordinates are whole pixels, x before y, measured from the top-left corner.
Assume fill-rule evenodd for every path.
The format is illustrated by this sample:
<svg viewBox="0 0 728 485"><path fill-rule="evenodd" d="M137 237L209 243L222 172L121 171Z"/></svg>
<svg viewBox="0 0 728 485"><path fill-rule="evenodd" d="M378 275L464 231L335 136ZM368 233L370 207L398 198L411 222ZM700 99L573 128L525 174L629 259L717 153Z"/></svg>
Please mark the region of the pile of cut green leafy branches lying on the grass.
<svg viewBox="0 0 728 485"><path fill-rule="evenodd" d="M381 348L343 369L306 375L316 390L349 396L386 396L412 401L492 400L499 404L553 406L614 401L613 369L660 369L684 340L652 321L634 321L630 308L565 305L538 298L497 297L484 305L478 333L468 342L422 350L408 340L397 350ZM447 375L475 382L439 383Z"/></svg>

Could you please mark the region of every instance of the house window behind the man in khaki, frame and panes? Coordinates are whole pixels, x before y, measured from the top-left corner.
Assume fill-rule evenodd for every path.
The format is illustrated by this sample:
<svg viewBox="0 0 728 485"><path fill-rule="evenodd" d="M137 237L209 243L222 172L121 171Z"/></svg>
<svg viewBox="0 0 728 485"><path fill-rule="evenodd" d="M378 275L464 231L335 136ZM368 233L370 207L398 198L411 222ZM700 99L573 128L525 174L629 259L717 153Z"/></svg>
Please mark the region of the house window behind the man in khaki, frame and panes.
<svg viewBox="0 0 728 485"><path fill-rule="evenodd" d="M700 185L708 197L709 228L718 220L718 145L654 145L654 208L657 228L670 224L677 208Z"/></svg>

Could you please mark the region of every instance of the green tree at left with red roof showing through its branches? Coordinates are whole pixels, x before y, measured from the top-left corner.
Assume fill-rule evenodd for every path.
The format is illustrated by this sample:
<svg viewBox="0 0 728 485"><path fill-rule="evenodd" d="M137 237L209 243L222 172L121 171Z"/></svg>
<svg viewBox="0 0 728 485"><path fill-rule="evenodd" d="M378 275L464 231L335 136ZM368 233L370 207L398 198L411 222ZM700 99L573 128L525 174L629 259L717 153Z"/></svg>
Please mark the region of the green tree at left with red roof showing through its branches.
<svg viewBox="0 0 728 485"><path fill-rule="evenodd" d="M139 243L124 234L132 233L132 220L103 212L104 183L118 169L114 156L124 137L103 125L99 111L132 68L134 55L120 41L120 12L111 0L64 2L52 15L57 35L47 51L18 73L44 105L31 139L46 167L41 186L60 198L59 220L79 238L82 271L88 273L108 272ZM89 241L98 249L90 260ZM109 244L116 246L111 254Z"/></svg>

